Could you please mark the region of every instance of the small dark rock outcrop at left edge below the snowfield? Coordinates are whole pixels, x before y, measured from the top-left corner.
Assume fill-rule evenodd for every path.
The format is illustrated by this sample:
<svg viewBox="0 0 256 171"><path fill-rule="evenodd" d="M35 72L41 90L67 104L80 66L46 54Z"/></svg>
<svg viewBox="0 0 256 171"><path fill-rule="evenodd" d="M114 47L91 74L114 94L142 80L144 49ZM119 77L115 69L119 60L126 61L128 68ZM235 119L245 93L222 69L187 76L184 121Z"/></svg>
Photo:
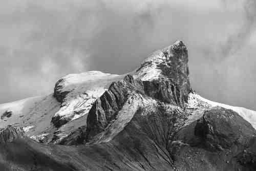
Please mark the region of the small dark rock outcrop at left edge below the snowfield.
<svg viewBox="0 0 256 171"><path fill-rule="evenodd" d="M23 136L24 131L22 128L9 125L5 129L0 130L0 143L13 142Z"/></svg>

